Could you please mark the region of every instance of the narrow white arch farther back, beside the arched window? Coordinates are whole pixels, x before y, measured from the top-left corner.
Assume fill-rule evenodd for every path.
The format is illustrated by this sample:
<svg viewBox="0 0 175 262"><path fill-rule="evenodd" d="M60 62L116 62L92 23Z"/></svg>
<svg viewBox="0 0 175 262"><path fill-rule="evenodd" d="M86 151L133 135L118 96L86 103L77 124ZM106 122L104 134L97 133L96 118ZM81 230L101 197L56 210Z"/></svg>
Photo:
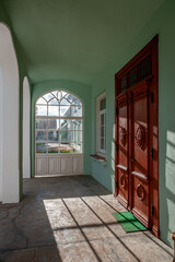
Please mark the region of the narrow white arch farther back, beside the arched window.
<svg viewBox="0 0 175 262"><path fill-rule="evenodd" d="M27 78L23 81L23 178L31 178L31 135L30 135L30 116L31 116L31 93Z"/></svg>

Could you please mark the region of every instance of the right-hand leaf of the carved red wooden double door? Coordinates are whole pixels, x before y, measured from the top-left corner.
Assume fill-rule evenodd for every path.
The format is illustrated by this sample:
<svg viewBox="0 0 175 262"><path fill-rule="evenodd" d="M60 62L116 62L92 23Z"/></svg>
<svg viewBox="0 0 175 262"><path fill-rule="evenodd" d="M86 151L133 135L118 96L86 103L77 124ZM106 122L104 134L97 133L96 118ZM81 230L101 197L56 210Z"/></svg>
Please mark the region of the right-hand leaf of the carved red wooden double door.
<svg viewBox="0 0 175 262"><path fill-rule="evenodd" d="M145 82L130 91L130 190L133 215L150 227L149 189L149 86Z"/></svg>

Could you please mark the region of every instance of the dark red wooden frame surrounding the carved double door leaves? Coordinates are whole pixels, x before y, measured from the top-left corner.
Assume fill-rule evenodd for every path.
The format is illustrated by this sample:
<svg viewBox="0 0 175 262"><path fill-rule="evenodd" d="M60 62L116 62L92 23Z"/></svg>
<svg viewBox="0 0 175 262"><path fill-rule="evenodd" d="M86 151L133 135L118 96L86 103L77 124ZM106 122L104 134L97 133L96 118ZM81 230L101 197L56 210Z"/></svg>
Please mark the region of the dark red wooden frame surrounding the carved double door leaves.
<svg viewBox="0 0 175 262"><path fill-rule="evenodd" d="M151 214L151 229L152 233L159 237L160 236L160 213L159 213L159 68L158 68L158 41L159 41L159 36L155 35L152 40L144 46L119 72L115 74L115 196L117 196L118 201L127 207L129 211L131 211L131 195L130 195L130 190L128 188L128 203L124 202L120 198L118 198L118 176L117 176L117 151L118 151L118 145L119 145L119 138L117 133L117 121L118 121L118 98L126 93L126 96L129 96L129 91L132 90L136 85L138 85L141 81L145 81L149 85L151 83L151 90L150 90L150 105L151 105L151 124L152 124L152 148L151 153L152 154L152 162L151 162L151 171L152 171L152 182L150 183L150 214ZM129 87L128 85L128 79L126 80L126 91L121 93L121 78L125 75L128 75L130 70L132 70L136 66L138 66L145 57L151 56L151 61L152 61L152 73L144 78L144 80L141 80L140 82L133 84L132 86ZM150 110L150 108L149 108ZM128 109L128 114L129 109ZM129 117L128 122L129 122ZM154 130L153 130L154 127ZM153 134L154 131L154 134ZM129 134L128 134L129 135ZM130 151L130 145L129 150ZM128 168L129 164L128 164ZM129 170L128 170L128 178L129 178L129 187L131 187L131 181L129 177Z"/></svg>

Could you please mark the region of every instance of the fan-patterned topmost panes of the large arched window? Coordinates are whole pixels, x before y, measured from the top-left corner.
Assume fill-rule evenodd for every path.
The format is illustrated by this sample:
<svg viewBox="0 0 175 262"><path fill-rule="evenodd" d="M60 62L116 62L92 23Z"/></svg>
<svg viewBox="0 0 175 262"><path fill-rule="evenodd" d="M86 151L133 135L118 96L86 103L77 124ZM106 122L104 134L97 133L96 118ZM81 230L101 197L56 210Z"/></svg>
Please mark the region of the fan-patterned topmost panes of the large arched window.
<svg viewBox="0 0 175 262"><path fill-rule="evenodd" d="M74 105L74 106L82 106L82 103L72 94L69 94L65 91L54 91L47 93L39 97L36 102L36 105Z"/></svg>

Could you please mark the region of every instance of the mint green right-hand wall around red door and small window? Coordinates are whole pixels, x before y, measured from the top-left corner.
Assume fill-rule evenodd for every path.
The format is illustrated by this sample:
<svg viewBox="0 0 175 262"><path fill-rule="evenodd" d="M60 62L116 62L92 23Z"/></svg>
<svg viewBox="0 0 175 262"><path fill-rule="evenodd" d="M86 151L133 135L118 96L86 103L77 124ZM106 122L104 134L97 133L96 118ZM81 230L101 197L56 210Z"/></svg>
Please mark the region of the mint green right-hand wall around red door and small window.
<svg viewBox="0 0 175 262"><path fill-rule="evenodd" d="M92 86L92 148L95 152L95 98L106 91L107 99L107 165L92 159L92 175L114 191L114 76L151 38L159 34L159 154L160 154L160 229L161 239L173 246L175 231L175 1L168 0L142 27L140 33L112 66L102 72Z"/></svg>

